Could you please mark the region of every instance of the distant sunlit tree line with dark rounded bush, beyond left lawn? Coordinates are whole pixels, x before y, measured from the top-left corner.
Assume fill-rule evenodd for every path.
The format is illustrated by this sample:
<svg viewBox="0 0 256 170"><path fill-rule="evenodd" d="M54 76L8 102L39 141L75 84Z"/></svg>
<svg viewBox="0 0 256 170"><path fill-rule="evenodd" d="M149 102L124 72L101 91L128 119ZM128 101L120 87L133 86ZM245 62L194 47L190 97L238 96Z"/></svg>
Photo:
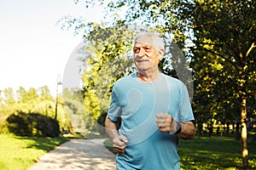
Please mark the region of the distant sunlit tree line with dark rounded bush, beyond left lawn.
<svg viewBox="0 0 256 170"><path fill-rule="evenodd" d="M5 88L0 95L0 133L20 136L58 136L61 131L72 129L61 96L58 117L55 120L55 98L47 86L20 87L16 92Z"/></svg>

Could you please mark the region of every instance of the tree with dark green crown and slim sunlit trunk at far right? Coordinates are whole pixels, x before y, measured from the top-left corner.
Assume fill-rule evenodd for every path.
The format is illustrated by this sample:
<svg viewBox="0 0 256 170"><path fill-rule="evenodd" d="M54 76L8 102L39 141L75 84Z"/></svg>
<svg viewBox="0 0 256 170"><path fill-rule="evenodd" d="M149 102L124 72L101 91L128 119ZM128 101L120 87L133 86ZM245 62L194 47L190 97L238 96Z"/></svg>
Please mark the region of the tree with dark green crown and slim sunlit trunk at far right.
<svg viewBox="0 0 256 170"><path fill-rule="evenodd" d="M255 1L195 1L188 13L195 33L195 53L205 51L223 59L226 69L233 73L227 77L235 82L233 93L240 100L243 167L248 167L247 95L255 92L251 88L255 88L255 79L248 81L248 77L255 77L255 8Z"/></svg>

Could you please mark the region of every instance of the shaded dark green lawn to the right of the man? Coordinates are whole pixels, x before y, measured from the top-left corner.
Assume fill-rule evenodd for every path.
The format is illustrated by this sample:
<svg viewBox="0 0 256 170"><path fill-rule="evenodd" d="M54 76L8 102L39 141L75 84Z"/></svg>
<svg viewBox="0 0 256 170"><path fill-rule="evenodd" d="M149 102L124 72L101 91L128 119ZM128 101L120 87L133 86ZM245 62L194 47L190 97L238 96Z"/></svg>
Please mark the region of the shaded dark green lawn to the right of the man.
<svg viewBox="0 0 256 170"><path fill-rule="evenodd" d="M256 169L256 143L249 137L249 165ZM110 140L105 145L111 145ZM108 148L113 151L111 147ZM179 140L178 154L184 170L235 170L241 168L241 141L235 137L195 137L193 140Z"/></svg>

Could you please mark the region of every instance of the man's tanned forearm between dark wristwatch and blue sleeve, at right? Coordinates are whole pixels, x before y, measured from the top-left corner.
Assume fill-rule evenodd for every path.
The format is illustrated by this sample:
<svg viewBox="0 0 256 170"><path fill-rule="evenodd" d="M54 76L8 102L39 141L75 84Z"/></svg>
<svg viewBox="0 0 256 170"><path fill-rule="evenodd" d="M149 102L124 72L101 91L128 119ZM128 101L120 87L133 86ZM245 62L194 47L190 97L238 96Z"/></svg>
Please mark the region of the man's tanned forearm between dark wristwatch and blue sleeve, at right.
<svg viewBox="0 0 256 170"><path fill-rule="evenodd" d="M195 133L196 130L193 122L183 122L181 123L180 131L175 134L181 139L194 139Z"/></svg>

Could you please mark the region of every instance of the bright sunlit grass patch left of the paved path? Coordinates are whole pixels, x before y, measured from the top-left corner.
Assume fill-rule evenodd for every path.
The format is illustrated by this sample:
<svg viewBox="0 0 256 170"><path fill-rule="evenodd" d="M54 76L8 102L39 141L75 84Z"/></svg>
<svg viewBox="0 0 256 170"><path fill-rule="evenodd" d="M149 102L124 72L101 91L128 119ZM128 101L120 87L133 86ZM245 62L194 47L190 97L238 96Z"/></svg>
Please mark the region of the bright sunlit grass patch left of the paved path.
<svg viewBox="0 0 256 170"><path fill-rule="evenodd" d="M26 170L38 161L40 156L67 140L67 138L30 138L0 134L0 169Z"/></svg>

